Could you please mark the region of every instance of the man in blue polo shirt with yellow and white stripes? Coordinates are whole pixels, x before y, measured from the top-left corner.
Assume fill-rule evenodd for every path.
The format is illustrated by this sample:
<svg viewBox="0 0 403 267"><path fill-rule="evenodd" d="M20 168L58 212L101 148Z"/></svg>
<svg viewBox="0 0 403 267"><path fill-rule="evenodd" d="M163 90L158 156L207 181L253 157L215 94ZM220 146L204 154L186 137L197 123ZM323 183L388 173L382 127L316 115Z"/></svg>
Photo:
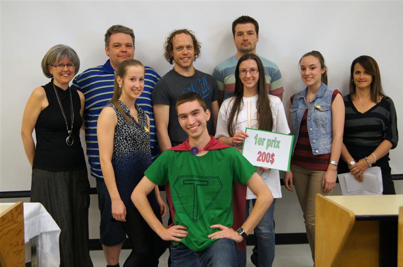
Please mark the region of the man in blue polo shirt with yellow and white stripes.
<svg viewBox="0 0 403 267"><path fill-rule="evenodd" d="M101 110L113 95L115 70L120 62L132 59L135 54L135 35L133 30L122 25L114 25L105 33L105 53L109 57L104 65L85 70L74 78L72 88L80 90L85 96L85 141L87 144L88 162L91 175L96 178L98 206L101 212L100 241L104 250L107 266L119 266L119 254L125 231L120 222L112 221L111 205L108 190L103 180L99 161L97 140L97 121ZM159 154L155 131L151 94L154 85L161 78L158 73L146 68L144 91L136 103L150 117L150 145L153 160Z"/></svg>

